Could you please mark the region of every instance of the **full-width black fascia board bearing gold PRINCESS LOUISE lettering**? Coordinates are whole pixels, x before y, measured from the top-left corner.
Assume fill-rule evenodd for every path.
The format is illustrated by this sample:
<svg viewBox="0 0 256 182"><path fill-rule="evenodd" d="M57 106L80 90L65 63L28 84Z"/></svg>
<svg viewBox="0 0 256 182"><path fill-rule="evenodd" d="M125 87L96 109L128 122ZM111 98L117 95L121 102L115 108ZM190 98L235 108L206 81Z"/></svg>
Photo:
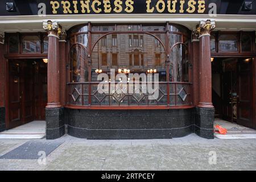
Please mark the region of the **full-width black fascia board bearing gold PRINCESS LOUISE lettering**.
<svg viewBox="0 0 256 182"><path fill-rule="evenodd" d="M0 1L0 16L75 14L256 14L248 0L14 0ZM8 4L8 7L7 7ZM248 2L247 2L248 5Z"/></svg>

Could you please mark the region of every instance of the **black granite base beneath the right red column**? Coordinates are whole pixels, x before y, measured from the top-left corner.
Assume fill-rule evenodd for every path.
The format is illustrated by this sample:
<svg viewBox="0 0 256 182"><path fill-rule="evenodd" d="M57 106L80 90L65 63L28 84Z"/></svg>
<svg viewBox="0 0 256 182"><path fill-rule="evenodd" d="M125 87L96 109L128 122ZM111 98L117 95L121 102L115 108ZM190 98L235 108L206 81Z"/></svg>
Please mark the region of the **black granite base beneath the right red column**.
<svg viewBox="0 0 256 182"><path fill-rule="evenodd" d="M199 137L214 139L214 108L196 107L195 133Z"/></svg>

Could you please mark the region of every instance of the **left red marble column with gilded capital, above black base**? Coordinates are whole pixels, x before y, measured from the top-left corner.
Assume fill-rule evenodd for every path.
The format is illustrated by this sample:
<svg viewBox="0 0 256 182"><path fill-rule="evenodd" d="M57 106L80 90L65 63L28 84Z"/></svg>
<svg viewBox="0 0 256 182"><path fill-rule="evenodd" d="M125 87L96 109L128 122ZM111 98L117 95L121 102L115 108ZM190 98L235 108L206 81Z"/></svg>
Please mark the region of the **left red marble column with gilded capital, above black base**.
<svg viewBox="0 0 256 182"><path fill-rule="evenodd" d="M60 60L59 60L59 35L60 27L57 22L44 22L44 30L48 32L49 49L47 65L47 109L59 108L60 104Z"/></svg>

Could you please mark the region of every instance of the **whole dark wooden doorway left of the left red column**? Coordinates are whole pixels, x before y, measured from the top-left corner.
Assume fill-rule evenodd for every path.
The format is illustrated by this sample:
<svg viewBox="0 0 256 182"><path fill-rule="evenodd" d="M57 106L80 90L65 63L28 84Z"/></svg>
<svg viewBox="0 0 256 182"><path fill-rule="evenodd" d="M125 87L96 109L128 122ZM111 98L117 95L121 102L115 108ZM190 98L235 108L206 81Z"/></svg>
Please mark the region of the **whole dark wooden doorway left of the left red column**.
<svg viewBox="0 0 256 182"><path fill-rule="evenodd" d="M7 129L45 119L47 64L42 59L13 59L7 64Z"/></svg>

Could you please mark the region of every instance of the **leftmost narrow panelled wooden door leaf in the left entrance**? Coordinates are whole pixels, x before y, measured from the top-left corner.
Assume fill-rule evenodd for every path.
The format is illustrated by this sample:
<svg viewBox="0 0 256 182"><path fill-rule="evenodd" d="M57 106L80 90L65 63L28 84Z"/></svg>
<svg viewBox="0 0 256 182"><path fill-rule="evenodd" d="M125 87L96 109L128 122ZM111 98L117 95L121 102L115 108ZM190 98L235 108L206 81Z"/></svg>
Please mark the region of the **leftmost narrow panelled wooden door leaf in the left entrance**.
<svg viewBox="0 0 256 182"><path fill-rule="evenodd" d="M9 121L7 127L13 128L22 125L22 63L9 61Z"/></svg>

